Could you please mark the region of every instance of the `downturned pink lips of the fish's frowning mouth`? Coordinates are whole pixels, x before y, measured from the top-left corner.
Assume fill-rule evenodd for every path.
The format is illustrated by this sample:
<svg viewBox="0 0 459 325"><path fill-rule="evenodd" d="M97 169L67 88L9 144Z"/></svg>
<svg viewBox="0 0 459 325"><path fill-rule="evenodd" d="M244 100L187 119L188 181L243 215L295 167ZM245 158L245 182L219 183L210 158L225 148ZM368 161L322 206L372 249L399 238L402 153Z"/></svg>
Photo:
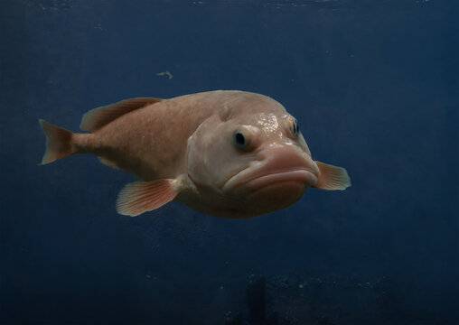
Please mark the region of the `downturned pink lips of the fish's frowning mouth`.
<svg viewBox="0 0 459 325"><path fill-rule="evenodd" d="M231 176L223 185L222 190L233 190L236 187L245 185L255 189L281 181L304 181L310 182L312 185L317 183L318 176L313 171L304 167L290 167L275 171L263 171L263 168L261 168L261 170L255 172L255 174L253 174L253 167L258 167L258 165L246 167ZM248 177L246 177L246 175ZM239 179L241 180L239 181Z"/></svg>

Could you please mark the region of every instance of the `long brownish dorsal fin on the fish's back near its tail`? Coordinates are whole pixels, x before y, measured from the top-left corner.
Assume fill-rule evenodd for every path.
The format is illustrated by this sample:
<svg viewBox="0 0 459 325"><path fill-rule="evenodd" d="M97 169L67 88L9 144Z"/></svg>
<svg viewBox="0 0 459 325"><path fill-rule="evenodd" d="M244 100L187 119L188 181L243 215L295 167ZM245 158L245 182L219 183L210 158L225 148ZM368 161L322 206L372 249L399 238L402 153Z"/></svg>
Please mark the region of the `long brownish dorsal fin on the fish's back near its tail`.
<svg viewBox="0 0 459 325"><path fill-rule="evenodd" d="M150 104L155 104L161 100L163 99L131 98L105 107L94 108L83 115L80 129L90 132L97 131L100 127L108 125L108 123L117 119L119 116L124 116L126 113Z"/></svg>

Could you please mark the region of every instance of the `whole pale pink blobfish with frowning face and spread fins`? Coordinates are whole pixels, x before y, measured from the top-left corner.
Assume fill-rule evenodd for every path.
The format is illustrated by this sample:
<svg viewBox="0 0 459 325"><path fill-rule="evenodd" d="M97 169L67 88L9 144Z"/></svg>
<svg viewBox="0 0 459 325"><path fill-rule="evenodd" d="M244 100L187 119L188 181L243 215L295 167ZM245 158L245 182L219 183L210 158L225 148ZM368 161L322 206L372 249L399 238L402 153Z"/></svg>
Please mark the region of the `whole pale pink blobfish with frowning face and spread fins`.
<svg viewBox="0 0 459 325"><path fill-rule="evenodd" d="M222 218L284 209L308 187L344 190L347 172L312 159L298 124L272 98L217 90L177 98L132 98L83 116L74 134L40 120L42 164L75 153L135 174L117 212L137 216L171 200Z"/></svg>

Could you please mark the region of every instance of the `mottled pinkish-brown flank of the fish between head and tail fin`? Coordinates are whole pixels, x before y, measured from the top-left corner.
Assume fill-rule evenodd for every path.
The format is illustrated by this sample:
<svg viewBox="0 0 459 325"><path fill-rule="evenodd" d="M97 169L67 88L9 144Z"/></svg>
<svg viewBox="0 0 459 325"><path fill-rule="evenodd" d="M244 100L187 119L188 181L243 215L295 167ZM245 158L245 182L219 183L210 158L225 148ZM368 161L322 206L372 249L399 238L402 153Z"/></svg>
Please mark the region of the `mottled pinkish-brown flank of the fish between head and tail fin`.
<svg viewBox="0 0 459 325"><path fill-rule="evenodd" d="M78 135L82 153L94 153L144 181L175 178L185 171L187 139L212 109L205 96L165 99L118 117L89 135Z"/></svg>

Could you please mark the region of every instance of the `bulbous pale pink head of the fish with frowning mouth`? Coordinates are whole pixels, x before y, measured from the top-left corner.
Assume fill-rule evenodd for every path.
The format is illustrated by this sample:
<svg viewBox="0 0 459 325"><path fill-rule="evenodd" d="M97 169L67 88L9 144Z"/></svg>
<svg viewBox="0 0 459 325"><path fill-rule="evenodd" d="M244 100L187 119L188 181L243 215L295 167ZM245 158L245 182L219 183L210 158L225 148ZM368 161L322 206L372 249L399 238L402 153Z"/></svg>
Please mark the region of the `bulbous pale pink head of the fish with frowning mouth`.
<svg viewBox="0 0 459 325"><path fill-rule="evenodd" d="M204 213L248 218L284 209L319 169L295 117L271 98L223 107L190 137L187 169Z"/></svg>

